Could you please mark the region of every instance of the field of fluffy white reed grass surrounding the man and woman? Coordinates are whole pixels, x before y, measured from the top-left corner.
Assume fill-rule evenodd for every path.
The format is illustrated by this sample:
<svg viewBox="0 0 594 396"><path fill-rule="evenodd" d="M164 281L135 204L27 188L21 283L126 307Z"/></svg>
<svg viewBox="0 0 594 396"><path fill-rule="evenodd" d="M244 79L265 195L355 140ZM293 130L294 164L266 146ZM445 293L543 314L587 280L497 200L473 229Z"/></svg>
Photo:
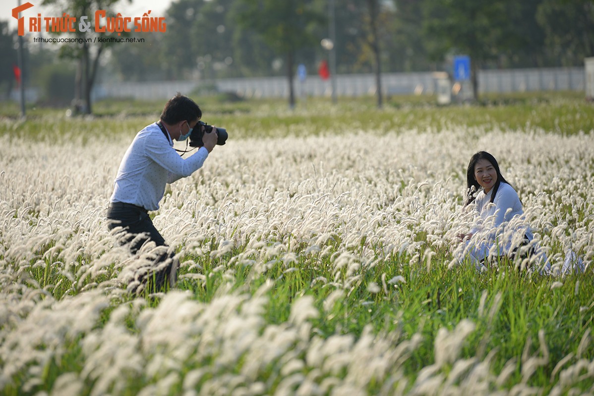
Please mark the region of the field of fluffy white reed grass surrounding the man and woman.
<svg viewBox="0 0 594 396"><path fill-rule="evenodd" d="M179 249L181 282L206 284L208 260L228 282L210 301L172 290L159 304L125 292L127 271L141 258L114 245L104 218L133 136L95 135L92 145L0 136L0 394L539 394L530 378L542 366L554 368L551 394L594 382L591 321L579 350L557 361L539 333L539 349L518 357L521 379L511 388L504 385L517 360L496 368L495 350L461 357L476 327L469 319L438 331L432 359L414 379L403 365L421 334L369 326L359 336L320 334L312 325L358 288L378 296L413 288L396 270L361 283L383 260L407 257L419 271L451 264L455 235L469 225L461 215L465 168L479 149L519 191L554 269L571 247L588 264L576 294L591 285L591 135L452 127L230 138L202 170L168 187L154 216ZM252 282L278 263L299 272L304 260L317 263L315 282L333 292L323 306L296 295L287 320L264 315L268 291L283 279L253 294L233 285L239 269ZM554 295L564 277L538 282ZM501 306L485 300L479 315L492 318Z"/></svg>

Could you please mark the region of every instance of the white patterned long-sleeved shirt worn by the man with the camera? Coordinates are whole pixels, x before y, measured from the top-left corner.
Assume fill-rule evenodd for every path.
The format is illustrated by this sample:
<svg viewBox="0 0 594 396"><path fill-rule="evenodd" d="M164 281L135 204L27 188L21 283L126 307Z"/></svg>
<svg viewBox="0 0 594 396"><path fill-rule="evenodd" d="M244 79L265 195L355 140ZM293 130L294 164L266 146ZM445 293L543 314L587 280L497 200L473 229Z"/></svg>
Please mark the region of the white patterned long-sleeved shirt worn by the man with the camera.
<svg viewBox="0 0 594 396"><path fill-rule="evenodd" d="M137 133L124 154L109 201L157 210L166 184L194 173L206 157L204 147L188 158L180 157L169 134L165 136L157 123L152 123Z"/></svg>

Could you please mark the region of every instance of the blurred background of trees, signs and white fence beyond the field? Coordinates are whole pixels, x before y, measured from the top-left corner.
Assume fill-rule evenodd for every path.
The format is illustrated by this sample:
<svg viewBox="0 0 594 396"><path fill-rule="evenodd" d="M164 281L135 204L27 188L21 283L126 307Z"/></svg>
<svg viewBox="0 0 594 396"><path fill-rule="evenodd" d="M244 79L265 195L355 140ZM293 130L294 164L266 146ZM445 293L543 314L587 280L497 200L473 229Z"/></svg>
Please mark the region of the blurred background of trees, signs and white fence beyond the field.
<svg viewBox="0 0 594 396"><path fill-rule="evenodd" d="M594 0L32 0L0 14L0 103L92 113L109 98L176 91L226 100L585 91L594 56ZM78 30L78 18L165 18L165 31ZM77 17L75 32L31 32L37 17ZM80 42L52 43L70 37ZM113 37L116 40L103 40ZM128 39L128 42L121 42ZM85 41L87 40L87 41ZM589 78L591 81L589 82Z"/></svg>

